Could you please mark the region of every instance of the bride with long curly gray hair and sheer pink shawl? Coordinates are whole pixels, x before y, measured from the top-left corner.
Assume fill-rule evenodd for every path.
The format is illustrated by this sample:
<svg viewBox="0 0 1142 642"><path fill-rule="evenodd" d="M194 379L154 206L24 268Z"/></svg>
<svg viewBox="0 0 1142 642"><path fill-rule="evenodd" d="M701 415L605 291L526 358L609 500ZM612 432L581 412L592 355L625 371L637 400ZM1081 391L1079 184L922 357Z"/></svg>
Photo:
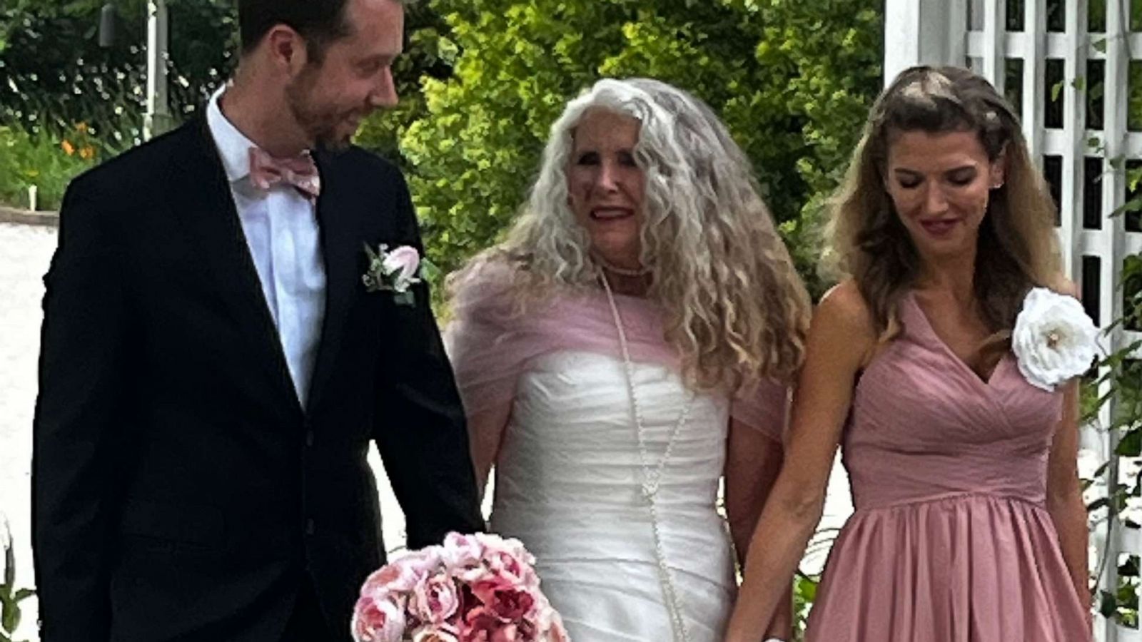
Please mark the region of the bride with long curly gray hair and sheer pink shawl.
<svg viewBox="0 0 1142 642"><path fill-rule="evenodd" d="M451 280L491 530L536 555L574 642L722 637L809 313L749 167L689 94L602 80L508 239Z"/></svg>

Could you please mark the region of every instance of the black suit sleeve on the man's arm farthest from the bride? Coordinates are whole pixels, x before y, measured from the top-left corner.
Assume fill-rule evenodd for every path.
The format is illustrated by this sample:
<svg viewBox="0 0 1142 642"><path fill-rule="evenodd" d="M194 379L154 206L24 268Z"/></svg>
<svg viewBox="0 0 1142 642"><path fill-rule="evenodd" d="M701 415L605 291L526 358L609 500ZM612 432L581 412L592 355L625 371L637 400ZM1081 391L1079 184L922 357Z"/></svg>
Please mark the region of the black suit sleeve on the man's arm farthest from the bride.
<svg viewBox="0 0 1142 642"><path fill-rule="evenodd" d="M45 276L33 419L32 529L42 642L106 641L113 478L124 371L122 250L73 183Z"/></svg>

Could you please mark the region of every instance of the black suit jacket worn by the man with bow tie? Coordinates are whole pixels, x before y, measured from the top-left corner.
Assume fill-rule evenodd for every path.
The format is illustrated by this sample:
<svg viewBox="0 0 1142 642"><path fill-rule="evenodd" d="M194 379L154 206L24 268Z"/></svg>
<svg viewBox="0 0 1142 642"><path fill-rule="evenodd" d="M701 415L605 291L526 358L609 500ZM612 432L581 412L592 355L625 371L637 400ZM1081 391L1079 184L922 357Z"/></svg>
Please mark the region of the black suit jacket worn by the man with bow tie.
<svg viewBox="0 0 1142 642"><path fill-rule="evenodd" d="M376 440L410 547L483 529L428 306L367 292L363 246L420 248L408 187L317 154L328 279L308 408L204 119L77 178L59 220L34 419L43 642L276 640L303 581L348 639L384 560Z"/></svg>

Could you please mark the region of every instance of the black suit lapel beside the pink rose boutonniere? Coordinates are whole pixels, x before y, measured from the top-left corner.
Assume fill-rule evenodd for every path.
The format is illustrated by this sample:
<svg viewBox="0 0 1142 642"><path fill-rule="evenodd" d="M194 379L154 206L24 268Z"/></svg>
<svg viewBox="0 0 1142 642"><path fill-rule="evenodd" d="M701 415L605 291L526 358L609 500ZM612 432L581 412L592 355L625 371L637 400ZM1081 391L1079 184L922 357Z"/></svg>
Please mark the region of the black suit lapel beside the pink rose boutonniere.
<svg viewBox="0 0 1142 642"><path fill-rule="evenodd" d="M309 408L316 407L333 372L353 292L361 282L359 259L364 252L357 228L360 218L348 198L352 191L343 184L346 177L331 169L333 161L328 154L317 154L315 160L322 184L317 199L317 224L321 226L321 251L325 262L325 315L309 387Z"/></svg>

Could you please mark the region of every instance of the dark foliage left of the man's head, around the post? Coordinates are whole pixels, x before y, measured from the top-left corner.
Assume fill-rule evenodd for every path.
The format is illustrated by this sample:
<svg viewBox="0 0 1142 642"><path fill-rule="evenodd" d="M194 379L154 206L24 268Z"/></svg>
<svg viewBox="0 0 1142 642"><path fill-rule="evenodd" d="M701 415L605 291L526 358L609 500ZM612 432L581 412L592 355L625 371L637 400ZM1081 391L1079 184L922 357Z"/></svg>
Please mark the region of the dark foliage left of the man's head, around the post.
<svg viewBox="0 0 1142 642"><path fill-rule="evenodd" d="M0 9L0 125L63 135L85 122L118 146L134 143L146 102L146 1L114 2L111 48L98 46L104 0L15 0ZM170 103L193 113L230 73L231 0L169 0Z"/></svg>

